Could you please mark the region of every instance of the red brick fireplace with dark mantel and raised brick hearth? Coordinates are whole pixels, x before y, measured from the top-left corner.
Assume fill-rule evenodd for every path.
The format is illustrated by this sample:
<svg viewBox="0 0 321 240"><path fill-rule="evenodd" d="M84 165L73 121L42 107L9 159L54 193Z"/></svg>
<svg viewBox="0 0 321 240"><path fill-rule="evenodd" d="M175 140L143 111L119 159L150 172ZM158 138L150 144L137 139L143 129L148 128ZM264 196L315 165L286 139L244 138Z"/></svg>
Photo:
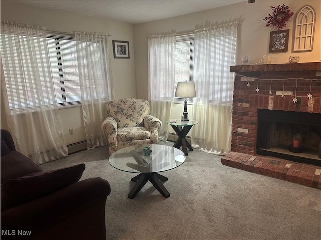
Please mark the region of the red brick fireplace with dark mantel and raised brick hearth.
<svg viewBox="0 0 321 240"><path fill-rule="evenodd" d="M293 162L282 160L289 159L286 156L283 157L287 155L286 150L285 154L276 155L277 157L262 157L258 155L262 153L258 150L257 144L258 111L260 109L266 110L267 114L269 110L271 112L304 112L309 113L307 114L308 118L313 114L317 121L321 119L319 118L321 116L321 62L231 66L230 72L236 73L232 113L232 152L222 157L222 163L236 168L245 168L244 170L251 169L250 171L257 171L256 173L264 174L265 172L266 175L270 175L270 170L274 169L270 175L274 177L277 177L278 170L280 174L277 178L280 177L284 180L293 178L293 175L287 178L287 173L291 173L294 166L293 174L300 168L298 165L302 165L303 169L303 165L309 163L304 168L304 184L307 182L305 178L309 172L309 176L313 175L312 179L308 181L311 183L309 186L312 186L314 173L316 173L314 187L319 185L321 189L319 183L321 167L318 167L321 165L321 159L317 156L317 149L315 149L316 156L312 157L314 158L312 161L304 160L305 157L302 158L300 154L297 154L297 157L290 158ZM309 94L312 96L307 98ZM294 102L296 100L293 98L297 102ZM304 125L304 122L302 124ZM311 128L313 130L315 127L316 129L321 127L321 122L318 122L319 125L313 124ZM314 131L315 134L318 133L317 130ZM318 145L320 139L315 134L313 136L317 142L313 144ZM255 169L254 162L259 165L257 166L259 169ZM277 162L278 166L275 167L275 164L271 164L271 162ZM282 167L280 167L281 165ZM301 175L303 176L303 174ZM295 182L298 183L297 178L295 178Z"/></svg>

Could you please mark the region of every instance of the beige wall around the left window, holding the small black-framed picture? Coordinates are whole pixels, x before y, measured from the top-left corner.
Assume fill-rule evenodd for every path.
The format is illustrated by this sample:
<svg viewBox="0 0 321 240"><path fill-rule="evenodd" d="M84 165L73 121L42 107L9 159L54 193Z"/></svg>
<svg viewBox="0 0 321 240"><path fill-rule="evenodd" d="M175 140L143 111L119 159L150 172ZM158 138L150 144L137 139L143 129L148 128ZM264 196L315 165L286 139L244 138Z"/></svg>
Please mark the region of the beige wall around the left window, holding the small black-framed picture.
<svg viewBox="0 0 321 240"><path fill-rule="evenodd" d="M1 1L1 19L46 27L49 31L104 32L111 34L110 56L114 80L115 98L136 97L133 25L108 21L64 11L42 9L15 1ZM129 41L130 59L114 59L111 40ZM1 128L7 128L1 102ZM82 110L80 107L60 110L60 116L67 144L86 139ZM69 135L74 128L74 135Z"/></svg>

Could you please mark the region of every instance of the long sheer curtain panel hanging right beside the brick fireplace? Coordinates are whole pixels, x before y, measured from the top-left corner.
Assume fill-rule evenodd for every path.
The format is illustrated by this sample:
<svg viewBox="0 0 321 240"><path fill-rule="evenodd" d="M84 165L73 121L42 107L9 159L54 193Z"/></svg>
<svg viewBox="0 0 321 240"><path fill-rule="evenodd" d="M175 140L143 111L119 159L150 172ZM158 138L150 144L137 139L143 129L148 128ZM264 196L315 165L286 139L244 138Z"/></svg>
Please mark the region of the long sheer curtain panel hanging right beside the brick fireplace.
<svg viewBox="0 0 321 240"><path fill-rule="evenodd" d="M231 121L238 23L195 32L192 146L223 155L231 149Z"/></svg>

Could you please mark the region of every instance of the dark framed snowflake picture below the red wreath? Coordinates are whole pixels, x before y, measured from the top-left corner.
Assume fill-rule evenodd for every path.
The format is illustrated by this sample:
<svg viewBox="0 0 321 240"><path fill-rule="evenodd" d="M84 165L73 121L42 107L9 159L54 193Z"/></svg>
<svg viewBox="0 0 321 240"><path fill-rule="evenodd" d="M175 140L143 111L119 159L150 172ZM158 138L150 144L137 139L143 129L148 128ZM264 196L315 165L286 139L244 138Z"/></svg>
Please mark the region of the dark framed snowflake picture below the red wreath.
<svg viewBox="0 0 321 240"><path fill-rule="evenodd" d="M269 52L287 52L290 30L280 30L270 32Z"/></svg>

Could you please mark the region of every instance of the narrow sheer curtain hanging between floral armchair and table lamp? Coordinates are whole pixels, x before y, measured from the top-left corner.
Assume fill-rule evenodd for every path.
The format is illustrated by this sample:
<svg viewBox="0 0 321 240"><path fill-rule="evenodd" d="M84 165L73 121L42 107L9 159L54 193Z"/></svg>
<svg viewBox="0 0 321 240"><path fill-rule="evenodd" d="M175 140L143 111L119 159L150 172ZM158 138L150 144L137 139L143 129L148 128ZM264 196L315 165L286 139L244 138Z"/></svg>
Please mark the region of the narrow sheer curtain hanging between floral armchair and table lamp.
<svg viewBox="0 0 321 240"><path fill-rule="evenodd" d="M148 37L148 101L150 115L162 121L159 139L166 141L174 102L176 34Z"/></svg>

